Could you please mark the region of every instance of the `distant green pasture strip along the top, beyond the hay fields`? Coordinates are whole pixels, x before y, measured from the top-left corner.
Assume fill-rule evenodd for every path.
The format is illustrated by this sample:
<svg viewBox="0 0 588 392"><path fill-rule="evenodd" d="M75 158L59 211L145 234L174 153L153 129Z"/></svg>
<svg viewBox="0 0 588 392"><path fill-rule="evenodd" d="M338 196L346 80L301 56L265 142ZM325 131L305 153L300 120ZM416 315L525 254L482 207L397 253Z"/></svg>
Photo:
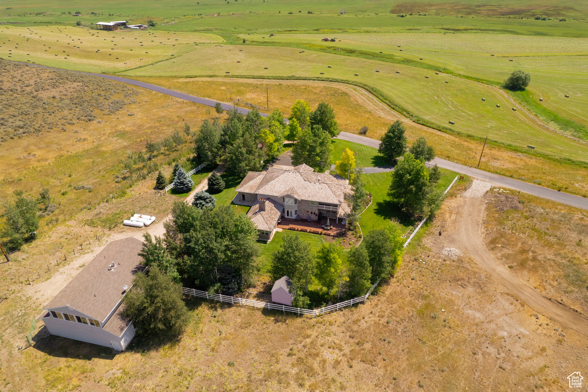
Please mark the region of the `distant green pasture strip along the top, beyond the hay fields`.
<svg viewBox="0 0 588 392"><path fill-rule="evenodd" d="M570 0L565 5L538 4L532 0L505 0L480 3L474 0L459 2L387 2L375 0L355 2L338 0L316 2L309 0L251 1L251 0L203 0L200 2L177 1L160 4L161 1L111 1L99 3L54 2L3 2L0 16L4 21L38 24L75 24L81 21L92 25L98 21L126 20L130 24L156 22L153 29L169 31L406 31L421 28L427 31L439 29L469 29L498 34L535 34L586 36L586 24L572 22L586 19L588 6L581 0ZM340 15L344 9L345 15ZM81 15L74 16L75 12ZM300 11L300 12L299 12ZM312 12L309 14L308 12ZM421 11L427 16L409 15L399 18L399 13ZM292 12L292 14L288 14ZM537 14L555 19L565 16L566 23L534 21ZM218 15L218 16L216 16ZM473 20L472 20L473 16ZM525 19L518 19L519 17ZM530 18L530 19L527 19Z"/></svg>

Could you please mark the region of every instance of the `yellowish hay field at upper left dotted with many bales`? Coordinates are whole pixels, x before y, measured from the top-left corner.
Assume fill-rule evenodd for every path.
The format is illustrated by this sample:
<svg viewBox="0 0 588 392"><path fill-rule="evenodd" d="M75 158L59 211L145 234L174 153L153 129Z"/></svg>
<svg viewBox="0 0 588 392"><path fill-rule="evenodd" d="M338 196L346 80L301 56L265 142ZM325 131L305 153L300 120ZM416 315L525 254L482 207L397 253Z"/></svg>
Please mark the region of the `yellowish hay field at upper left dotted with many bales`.
<svg viewBox="0 0 588 392"><path fill-rule="evenodd" d="M49 67L118 72L193 51L198 42L222 42L215 34L100 31L76 26L2 26L0 57Z"/></svg>

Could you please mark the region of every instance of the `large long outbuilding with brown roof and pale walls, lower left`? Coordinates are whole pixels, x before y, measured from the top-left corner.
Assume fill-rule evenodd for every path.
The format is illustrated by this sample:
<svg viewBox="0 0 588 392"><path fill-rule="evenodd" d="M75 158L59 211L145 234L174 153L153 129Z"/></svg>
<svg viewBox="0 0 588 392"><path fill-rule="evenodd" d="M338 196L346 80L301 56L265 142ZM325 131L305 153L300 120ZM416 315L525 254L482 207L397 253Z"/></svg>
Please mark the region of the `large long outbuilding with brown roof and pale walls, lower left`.
<svg viewBox="0 0 588 392"><path fill-rule="evenodd" d="M124 351L135 336L132 320L122 315L122 298L133 275L145 265L142 241L112 241L44 307L47 330L58 335Z"/></svg>

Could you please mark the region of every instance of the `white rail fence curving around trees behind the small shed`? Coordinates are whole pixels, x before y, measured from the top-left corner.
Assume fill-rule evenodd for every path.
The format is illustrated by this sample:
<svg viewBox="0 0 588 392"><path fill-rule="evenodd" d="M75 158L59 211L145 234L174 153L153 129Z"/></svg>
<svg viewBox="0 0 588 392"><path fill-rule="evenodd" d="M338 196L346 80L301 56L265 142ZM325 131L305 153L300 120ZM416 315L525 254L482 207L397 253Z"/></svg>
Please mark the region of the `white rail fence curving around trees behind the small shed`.
<svg viewBox="0 0 588 392"><path fill-rule="evenodd" d="M248 306L252 306L254 308L266 308L268 310L281 310L283 312L290 312L290 313L296 313L296 314L308 314L308 315L312 315L312 317L315 317L317 315L323 315L325 313L329 313L330 311L338 311L339 309L342 309L344 307L351 306L354 304L358 304L360 302L365 303L365 301L368 299L370 294L372 294L373 289L376 288L376 285L378 283L379 283L379 281L377 281L372 286L372 288L369 289L368 293L366 293L365 295L362 295L361 297L353 298L352 300L340 302L338 304L334 304L334 305L330 305L330 306L326 306L324 308L314 309L314 310L295 308L295 307L288 306L288 305L272 304L269 302L247 300L246 298L230 297L229 295L209 294L208 291L196 290L194 288L182 287L182 292L186 295L193 295L194 297L206 298L207 300L220 301L222 303L227 303L227 304L230 303L232 305L248 305Z"/></svg>

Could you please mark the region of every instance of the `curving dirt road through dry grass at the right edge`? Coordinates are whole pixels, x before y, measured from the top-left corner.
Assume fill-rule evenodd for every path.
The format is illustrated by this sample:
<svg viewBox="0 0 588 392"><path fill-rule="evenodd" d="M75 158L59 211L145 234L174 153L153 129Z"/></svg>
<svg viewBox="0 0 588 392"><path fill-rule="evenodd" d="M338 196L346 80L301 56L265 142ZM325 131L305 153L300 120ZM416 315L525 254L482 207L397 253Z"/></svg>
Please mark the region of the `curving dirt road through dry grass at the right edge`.
<svg viewBox="0 0 588 392"><path fill-rule="evenodd" d="M492 257L492 254L490 254L482 241L482 224L485 211L486 204L481 199L466 199L460 235L462 249L467 250L488 273L505 285L508 293L516 295L538 313L553 318L581 334L588 335L588 319L550 301L549 298L543 297L539 291L526 285Z"/></svg>

